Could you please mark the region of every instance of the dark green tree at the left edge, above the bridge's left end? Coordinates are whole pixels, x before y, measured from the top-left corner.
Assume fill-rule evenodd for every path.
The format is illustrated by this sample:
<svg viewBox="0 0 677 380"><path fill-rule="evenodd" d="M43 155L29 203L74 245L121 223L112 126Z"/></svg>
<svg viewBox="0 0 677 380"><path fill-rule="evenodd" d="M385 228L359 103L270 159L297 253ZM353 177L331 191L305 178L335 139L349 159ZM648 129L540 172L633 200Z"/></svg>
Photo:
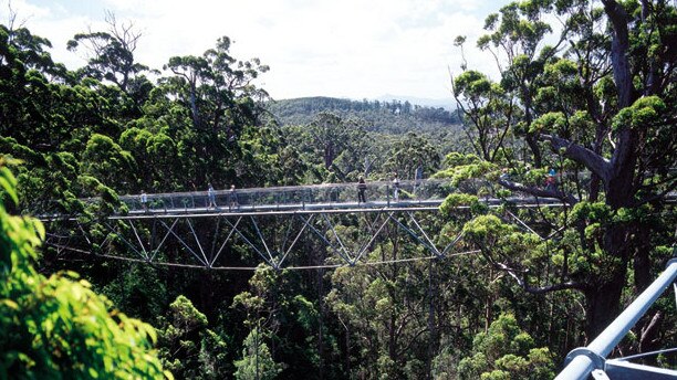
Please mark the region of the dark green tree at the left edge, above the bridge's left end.
<svg viewBox="0 0 677 380"><path fill-rule="evenodd" d="M59 204L74 211L77 197L103 190L104 178L81 171L87 141L96 133L119 129L111 117L115 105L97 92L98 83L79 83L52 61L49 46L27 29L0 25L1 151L23 160L18 178L20 192L30 200L27 209Z"/></svg>

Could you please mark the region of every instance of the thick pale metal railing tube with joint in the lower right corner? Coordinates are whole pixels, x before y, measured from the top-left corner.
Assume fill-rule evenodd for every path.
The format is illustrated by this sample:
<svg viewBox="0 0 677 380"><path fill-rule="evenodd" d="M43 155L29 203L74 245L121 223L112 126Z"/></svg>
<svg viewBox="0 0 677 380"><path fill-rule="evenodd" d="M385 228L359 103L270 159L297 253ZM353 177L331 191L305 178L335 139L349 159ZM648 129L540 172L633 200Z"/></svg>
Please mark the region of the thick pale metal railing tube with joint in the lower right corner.
<svg viewBox="0 0 677 380"><path fill-rule="evenodd" d="M677 379L677 371L643 365L629 363L628 358L607 360L606 356L625 337L637 320L656 302L663 292L677 277L677 258L668 265L656 281L652 283L595 340L582 348L576 348L566 356L566 367L555 380L587 379ZM677 287L675 288L677 292ZM635 358L635 357L632 357Z"/></svg>

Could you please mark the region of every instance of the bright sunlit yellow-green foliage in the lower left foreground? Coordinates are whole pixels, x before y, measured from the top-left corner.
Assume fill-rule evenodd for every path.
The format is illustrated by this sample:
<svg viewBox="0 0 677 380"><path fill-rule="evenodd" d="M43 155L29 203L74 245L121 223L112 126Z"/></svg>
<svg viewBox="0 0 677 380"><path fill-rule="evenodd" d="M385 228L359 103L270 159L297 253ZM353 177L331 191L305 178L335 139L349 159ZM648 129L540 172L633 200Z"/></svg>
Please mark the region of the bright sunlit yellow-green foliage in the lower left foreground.
<svg viewBox="0 0 677 380"><path fill-rule="evenodd" d="M0 186L17 202L7 167ZM0 377L171 378L152 350L153 327L113 309L73 272L34 270L44 228L0 204Z"/></svg>

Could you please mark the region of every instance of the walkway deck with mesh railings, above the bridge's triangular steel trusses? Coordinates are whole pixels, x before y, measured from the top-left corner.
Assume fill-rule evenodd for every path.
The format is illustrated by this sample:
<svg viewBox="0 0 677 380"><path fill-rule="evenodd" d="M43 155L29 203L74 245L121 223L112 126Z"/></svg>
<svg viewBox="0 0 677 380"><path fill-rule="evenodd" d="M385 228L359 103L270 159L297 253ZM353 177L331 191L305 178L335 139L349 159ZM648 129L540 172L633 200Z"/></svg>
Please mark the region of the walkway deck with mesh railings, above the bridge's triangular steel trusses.
<svg viewBox="0 0 677 380"><path fill-rule="evenodd" d="M125 205L107 217L116 219L148 218L194 218L213 214L261 215L273 213L317 213L336 211L373 212L386 210L437 211L450 193L468 193L480 197L489 207L510 202L517 207L561 205L561 201L551 198L511 197L493 198L490 193L478 194L481 184L465 186L452 189L448 180L430 179L419 181L400 181L397 196L392 182L369 182L365 190L366 202L357 201L355 183L324 183L312 186L291 186L271 188L251 188L235 190L215 190L194 192L169 192L135 196L122 196L119 201ZM98 198L85 199L85 203L101 201ZM212 205L210 205L212 201ZM76 218L62 213L42 213L43 221Z"/></svg>

